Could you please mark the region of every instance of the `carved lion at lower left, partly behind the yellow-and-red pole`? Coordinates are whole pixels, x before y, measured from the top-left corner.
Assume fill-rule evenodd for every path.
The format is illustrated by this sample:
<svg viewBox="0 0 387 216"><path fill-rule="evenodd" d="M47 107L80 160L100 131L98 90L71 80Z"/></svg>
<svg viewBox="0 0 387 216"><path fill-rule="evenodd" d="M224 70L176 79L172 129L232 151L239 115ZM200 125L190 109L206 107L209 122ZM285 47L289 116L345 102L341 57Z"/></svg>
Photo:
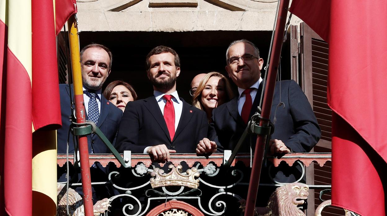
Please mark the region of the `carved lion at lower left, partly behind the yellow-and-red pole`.
<svg viewBox="0 0 387 216"><path fill-rule="evenodd" d="M57 186L57 196L58 196L58 208L57 208L57 216L65 216L67 215L66 204L67 204L67 195L66 192L62 189L65 184L59 184ZM99 200L93 206L94 216L101 216L108 211L110 207L110 200L105 198L103 200ZM68 215L70 216L84 216L84 207L82 197L74 190L68 189Z"/></svg>

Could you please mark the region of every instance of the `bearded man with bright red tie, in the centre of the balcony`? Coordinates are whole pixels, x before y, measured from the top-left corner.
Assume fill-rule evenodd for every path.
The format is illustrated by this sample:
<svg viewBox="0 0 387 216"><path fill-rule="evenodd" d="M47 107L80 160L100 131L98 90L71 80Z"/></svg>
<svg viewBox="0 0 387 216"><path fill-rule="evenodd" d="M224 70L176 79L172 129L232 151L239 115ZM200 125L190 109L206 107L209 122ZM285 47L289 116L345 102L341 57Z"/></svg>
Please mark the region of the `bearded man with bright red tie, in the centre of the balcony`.
<svg viewBox="0 0 387 216"><path fill-rule="evenodd" d="M207 135L208 122L205 112L178 96L178 54L158 46L147 55L146 63L154 95L127 104L117 134L118 150L148 153L161 162L169 161L170 153L194 153Z"/></svg>

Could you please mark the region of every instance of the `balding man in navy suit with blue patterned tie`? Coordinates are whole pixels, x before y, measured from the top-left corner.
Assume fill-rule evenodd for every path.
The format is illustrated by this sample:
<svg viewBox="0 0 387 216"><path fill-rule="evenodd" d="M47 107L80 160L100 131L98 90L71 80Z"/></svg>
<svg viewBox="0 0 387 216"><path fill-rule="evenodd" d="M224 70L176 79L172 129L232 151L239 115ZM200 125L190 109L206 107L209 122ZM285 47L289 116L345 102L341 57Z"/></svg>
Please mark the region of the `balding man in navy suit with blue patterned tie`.
<svg viewBox="0 0 387 216"><path fill-rule="evenodd" d="M83 98L85 102L86 119L94 121L99 129L104 133L106 138L113 143L118 125L120 124L122 111L115 105L111 104L101 94L101 88L106 78L111 71L112 54L108 48L100 44L90 44L80 51L80 65L82 70ZM57 131L58 153L74 154L75 143L77 137L73 136L70 130L70 117L74 117L75 113L71 111L70 95L74 99L74 89L71 85L61 84L60 90L60 105L62 113L62 128ZM71 91L71 94L70 94ZM75 121L75 120L74 120ZM69 138L68 138L69 137ZM103 143L98 135L92 134L87 136L89 153L110 153L108 147ZM73 173L74 170L70 170ZM65 166L59 168L58 174L65 172ZM90 168L92 182L108 181L106 168L100 164L93 165ZM80 175L71 175L73 181L80 181ZM65 182L65 175L58 178L58 182ZM103 199L110 197L110 188L97 189L93 186L93 199ZM77 192L82 194L82 190L78 187Z"/></svg>

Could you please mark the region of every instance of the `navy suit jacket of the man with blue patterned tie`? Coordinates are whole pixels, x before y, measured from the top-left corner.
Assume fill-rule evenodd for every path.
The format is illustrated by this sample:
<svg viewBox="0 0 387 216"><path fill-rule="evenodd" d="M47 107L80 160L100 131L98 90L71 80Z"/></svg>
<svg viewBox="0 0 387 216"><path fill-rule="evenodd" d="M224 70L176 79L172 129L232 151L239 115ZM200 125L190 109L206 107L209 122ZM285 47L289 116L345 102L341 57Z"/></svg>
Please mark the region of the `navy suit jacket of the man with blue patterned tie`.
<svg viewBox="0 0 387 216"><path fill-rule="evenodd" d="M67 136L70 128L70 87L66 84L59 85L60 92L60 106L62 113L62 128L57 131L57 141L58 141L58 154L66 153L67 145ZM74 97L74 90L71 86L72 96ZM75 114L74 114L75 116ZM118 125L120 124L122 117L122 111L118 109L115 105L108 103L103 95L101 96L101 108L98 119L98 128L101 129L102 133L105 134L106 138L109 139L114 145L114 139L118 130ZM87 116L86 116L87 118ZM78 143L77 138L70 133L70 139L68 142L68 153L74 154L74 143ZM93 148L94 153L103 154L111 153L108 147L103 143L98 135L94 134L87 136L87 143L89 145L89 153L91 153L91 148ZM72 180L70 183L79 182L80 183L80 170L74 170L70 168L70 177ZM97 164L96 167L90 168L91 182L104 182L109 181L107 176L107 168L102 167L101 164ZM58 167L58 182L65 182L66 177L66 166ZM76 187L75 190L82 196L82 187ZM92 186L92 196L93 202L101 200L106 197L111 197L113 195L110 185L93 185Z"/></svg>

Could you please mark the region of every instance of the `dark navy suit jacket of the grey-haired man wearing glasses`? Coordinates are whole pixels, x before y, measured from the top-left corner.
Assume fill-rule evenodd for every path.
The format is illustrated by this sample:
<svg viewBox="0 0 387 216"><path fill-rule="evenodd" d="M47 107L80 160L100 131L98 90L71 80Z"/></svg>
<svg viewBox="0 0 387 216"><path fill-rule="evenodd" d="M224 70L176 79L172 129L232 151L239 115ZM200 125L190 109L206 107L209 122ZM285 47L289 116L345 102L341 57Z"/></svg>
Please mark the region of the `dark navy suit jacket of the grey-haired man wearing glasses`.
<svg viewBox="0 0 387 216"><path fill-rule="evenodd" d="M261 92L262 82L253 102L250 117L259 105ZM278 106L280 101L284 105ZM276 121L274 121L274 117L276 117ZM275 126L271 139L282 140L293 152L309 152L320 139L321 130L312 107L301 88L293 80L276 83L270 120ZM238 113L238 97L235 97L214 109L208 138L217 143L220 151L233 150L246 126ZM252 138L254 148L256 136ZM240 153L250 152L249 142L249 138L245 139Z"/></svg>

